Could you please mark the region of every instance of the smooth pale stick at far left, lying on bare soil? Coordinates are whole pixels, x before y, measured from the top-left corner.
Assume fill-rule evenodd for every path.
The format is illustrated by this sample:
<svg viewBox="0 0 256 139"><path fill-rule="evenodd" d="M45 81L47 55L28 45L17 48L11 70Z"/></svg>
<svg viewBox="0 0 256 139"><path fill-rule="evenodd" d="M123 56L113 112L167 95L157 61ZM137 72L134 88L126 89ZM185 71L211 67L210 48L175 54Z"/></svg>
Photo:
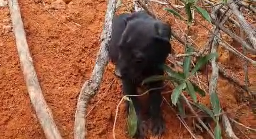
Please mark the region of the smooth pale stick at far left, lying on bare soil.
<svg viewBox="0 0 256 139"><path fill-rule="evenodd" d="M42 95L33 61L28 49L26 34L20 15L20 8L17 0L9 0L9 8L11 12L13 31L16 39L16 46L19 54L21 68L27 86L27 91L35 109L38 120L43 128L47 139L62 139L56 124L53 121L51 110L46 104Z"/></svg>

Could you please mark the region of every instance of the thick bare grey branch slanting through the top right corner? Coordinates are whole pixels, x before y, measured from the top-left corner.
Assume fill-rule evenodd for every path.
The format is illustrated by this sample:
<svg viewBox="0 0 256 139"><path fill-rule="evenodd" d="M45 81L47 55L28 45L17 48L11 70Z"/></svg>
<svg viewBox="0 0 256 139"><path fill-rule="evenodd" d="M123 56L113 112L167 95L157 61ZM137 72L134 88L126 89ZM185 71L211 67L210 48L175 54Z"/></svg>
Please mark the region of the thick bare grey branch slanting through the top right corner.
<svg viewBox="0 0 256 139"><path fill-rule="evenodd" d="M230 2L233 2L233 0L229 0ZM243 31L247 34L249 40L251 41L252 46L254 47L254 51L256 49L256 36L254 35L253 28L246 22L246 20L243 18L242 13L238 10L237 5L235 3L231 3L229 5L230 9L232 9L232 12L234 15L236 15L236 18L238 19L238 22L241 25L241 28Z"/></svg>

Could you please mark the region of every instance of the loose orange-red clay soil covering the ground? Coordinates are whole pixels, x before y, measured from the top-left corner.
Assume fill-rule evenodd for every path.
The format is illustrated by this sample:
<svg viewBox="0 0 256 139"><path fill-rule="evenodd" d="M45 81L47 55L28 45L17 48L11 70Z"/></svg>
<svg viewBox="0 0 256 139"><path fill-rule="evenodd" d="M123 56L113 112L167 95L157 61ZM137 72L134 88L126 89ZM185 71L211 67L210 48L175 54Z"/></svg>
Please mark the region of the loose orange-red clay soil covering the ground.
<svg viewBox="0 0 256 139"><path fill-rule="evenodd" d="M78 95L82 83L90 77L99 49L106 1L73 0L58 10L49 8L51 0L46 0L47 6L40 0L19 2L27 43L43 95L53 112L60 134L65 139L71 139ZM49 12L46 9L49 9ZM167 22L174 25L174 30L185 29L185 25L177 25L172 16ZM192 36L195 37L193 39L200 36L196 42L202 46L208 38L206 30L200 29L199 26L193 29L198 35ZM177 41L172 41L172 46L177 53L182 52L183 48ZM45 138L24 83L8 6L1 7L1 67L1 139ZM87 108L89 111L103 97L86 117L88 139L113 138L115 109L122 97L121 83L113 75L113 71L114 66L109 64L101 88ZM241 71L237 70L238 73ZM237 100L240 92L227 80L219 80L218 91L221 106L226 110L237 108L244 103ZM199 101L208 106L210 104L208 97ZM175 113L166 103L163 103L162 107L167 131L161 138L189 139L188 131L181 125ZM247 126L256 127L255 115L248 106L234 110L229 116ZM186 118L189 119L191 118ZM256 138L253 132L237 127L235 131L241 139L245 136L238 128L243 134ZM124 104L120 107L115 131L117 138L129 138L126 133Z"/></svg>

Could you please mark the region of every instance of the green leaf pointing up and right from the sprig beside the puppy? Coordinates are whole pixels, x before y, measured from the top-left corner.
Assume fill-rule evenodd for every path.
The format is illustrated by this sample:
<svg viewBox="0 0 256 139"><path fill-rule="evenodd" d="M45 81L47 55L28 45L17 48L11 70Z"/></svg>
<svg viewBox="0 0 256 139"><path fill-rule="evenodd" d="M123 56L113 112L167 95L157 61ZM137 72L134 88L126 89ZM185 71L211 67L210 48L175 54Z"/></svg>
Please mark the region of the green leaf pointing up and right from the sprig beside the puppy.
<svg viewBox="0 0 256 139"><path fill-rule="evenodd" d="M197 63L196 66L192 69L191 71L191 75L195 74L196 71L198 71L202 66L204 66L208 60L214 58L214 57L218 57L218 53L210 53L206 56L201 57Z"/></svg>

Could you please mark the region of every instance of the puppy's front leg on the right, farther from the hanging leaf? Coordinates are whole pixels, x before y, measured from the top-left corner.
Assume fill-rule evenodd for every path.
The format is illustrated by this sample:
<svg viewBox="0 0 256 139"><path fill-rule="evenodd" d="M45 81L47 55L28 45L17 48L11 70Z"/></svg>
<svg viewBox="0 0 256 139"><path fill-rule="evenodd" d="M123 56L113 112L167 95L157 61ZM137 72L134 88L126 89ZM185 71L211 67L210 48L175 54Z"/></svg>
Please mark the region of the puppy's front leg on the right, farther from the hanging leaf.
<svg viewBox="0 0 256 139"><path fill-rule="evenodd" d="M163 87L163 82L153 82L148 84L149 88L159 88ZM165 131L165 123L163 121L162 113L161 113L161 102L162 102L162 96L161 96L161 90L152 90L149 92L149 114L152 120L152 127L151 131L153 135L162 135Z"/></svg>

